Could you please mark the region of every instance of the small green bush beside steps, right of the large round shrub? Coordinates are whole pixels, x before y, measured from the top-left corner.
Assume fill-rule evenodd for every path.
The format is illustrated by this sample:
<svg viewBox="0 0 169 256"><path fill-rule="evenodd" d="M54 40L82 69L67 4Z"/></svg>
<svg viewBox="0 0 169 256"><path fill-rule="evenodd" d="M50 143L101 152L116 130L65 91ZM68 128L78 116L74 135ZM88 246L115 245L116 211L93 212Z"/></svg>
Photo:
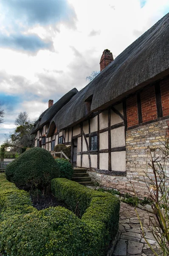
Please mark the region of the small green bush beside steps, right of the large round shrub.
<svg viewBox="0 0 169 256"><path fill-rule="evenodd" d="M67 159L56 158L55 161L57 163L58 169L60 170L60 177L70 180L73 176L73 166Z"/></svg>

